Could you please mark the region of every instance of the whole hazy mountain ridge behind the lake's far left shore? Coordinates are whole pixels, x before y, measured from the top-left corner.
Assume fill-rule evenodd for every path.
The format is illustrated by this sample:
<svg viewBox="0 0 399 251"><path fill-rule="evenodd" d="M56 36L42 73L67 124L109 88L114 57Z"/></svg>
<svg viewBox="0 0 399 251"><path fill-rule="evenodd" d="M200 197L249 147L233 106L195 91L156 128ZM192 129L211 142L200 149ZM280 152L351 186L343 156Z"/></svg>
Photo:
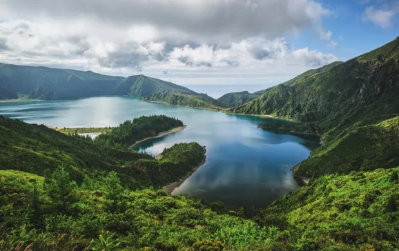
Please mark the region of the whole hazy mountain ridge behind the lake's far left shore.
<svg viewBox="0 0 399 251"><path fill-rule="evenodd" d="M168 94L167 99L165 94ZM174 99L171 98L172 94L176 97L179 94L184 95ZM206 94L144 75L124 78L91 71L0 63L0 99L81 99L104 95L150 96L143 100L195 108L225 107Z"/></svg>

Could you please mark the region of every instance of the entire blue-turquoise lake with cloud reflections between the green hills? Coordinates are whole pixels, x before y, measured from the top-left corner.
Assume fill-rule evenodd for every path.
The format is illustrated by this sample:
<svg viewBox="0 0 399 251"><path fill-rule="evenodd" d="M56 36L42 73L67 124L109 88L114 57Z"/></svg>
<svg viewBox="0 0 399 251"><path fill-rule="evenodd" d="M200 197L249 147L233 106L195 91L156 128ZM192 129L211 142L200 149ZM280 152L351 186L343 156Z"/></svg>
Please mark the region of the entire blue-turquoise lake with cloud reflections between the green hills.
<svg viewBox="0 0 399 251"><path fill-rule="evenodd" d="M135 97L0 103L0 114L54 127L114 126L150 114L176 117L188 125L185 130L144 141L139 149L157 155L180 142L206 146L204 165L173 193L221 200L232 208L262 207L298 188L291 168L317 145L257 128L270 119L146 103Z"/></svg>

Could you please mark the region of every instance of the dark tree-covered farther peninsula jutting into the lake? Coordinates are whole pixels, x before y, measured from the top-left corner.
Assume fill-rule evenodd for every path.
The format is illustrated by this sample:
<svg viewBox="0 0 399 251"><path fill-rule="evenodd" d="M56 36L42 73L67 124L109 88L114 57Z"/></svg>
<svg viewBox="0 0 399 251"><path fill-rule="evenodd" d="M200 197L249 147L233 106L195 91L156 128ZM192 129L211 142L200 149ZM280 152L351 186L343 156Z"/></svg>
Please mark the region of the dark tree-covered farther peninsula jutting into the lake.
<svg viewBox="0 0 399 251"><path fill-rule="evenodd" d="M160 132L166 132L183 125L183 122L179 119L164 115L143 116L133 119L133 121L125 121L107 134L100 134L95 139L95 143L113 148L128 148L136 141L155 137Z"/></svg>

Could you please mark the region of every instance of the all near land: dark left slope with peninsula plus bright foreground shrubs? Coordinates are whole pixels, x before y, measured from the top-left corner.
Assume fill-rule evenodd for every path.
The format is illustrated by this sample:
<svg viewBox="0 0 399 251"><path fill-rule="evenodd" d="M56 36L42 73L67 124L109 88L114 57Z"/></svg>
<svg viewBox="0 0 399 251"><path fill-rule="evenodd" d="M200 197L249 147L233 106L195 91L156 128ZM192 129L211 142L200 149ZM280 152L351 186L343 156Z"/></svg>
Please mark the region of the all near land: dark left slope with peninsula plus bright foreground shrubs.
<svg viewBox="0 0 399 251"><path fill-rule="evenodd" d="M246 219L220 201L153 188L203 160L197 143L177 144L155 160L0 121L1 250L399 248L399 168L323 176Z"/></svg>

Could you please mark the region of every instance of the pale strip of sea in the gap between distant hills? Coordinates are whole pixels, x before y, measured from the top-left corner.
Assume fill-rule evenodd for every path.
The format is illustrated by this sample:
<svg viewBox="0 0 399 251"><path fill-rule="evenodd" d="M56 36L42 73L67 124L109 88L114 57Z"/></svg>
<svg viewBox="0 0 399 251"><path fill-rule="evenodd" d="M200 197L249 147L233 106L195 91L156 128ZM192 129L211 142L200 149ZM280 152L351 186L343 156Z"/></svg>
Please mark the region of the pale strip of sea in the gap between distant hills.
<svg viewBox="0 0 399 251"><path fill-rule="evenodd" d="M264 90L270 86L262 85L182 85L186 88L199 93L206 93L215 99L222 97L228 92L243 92L244 90L248 92L257 92L258 90Z"/></svg>

